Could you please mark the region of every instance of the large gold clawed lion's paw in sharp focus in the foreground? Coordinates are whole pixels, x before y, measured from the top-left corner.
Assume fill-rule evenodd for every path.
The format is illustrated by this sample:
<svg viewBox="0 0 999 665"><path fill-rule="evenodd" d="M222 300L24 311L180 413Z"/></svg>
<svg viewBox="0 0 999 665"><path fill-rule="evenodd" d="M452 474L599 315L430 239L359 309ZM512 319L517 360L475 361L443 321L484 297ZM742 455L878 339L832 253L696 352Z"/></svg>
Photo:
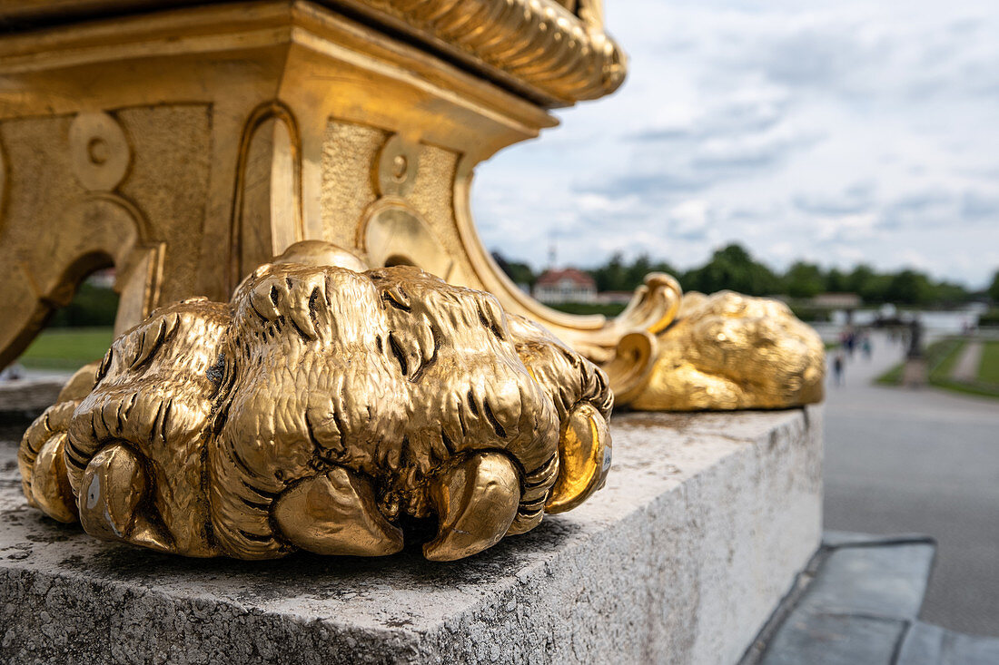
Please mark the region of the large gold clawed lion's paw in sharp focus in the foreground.
<svg viewBox="0 0 999 665"><path fill-rule="evenodd" d="M229 304L119 336L25 434L28 501L99 538L244 559L392 554L402 520L435 519L424 553L452 560L602 485L598 368L488 294L359 263L294 245Z"/></svg>

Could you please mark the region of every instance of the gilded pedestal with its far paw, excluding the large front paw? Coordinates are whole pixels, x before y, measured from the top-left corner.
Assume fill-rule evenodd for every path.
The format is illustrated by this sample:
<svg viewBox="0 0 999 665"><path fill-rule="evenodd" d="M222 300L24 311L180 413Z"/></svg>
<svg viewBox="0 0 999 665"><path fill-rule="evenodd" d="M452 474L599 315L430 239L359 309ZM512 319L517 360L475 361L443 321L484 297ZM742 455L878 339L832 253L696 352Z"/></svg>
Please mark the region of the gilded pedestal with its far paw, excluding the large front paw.
<svg viewBox="0 0 999 665"><path fill-rule="evenodd" d="M97 268L119 271L123 332L160 303L227 300L309 240L493 294L601 365L635 408L820 398L817 337L786 313L783 328L752 308L725 315L745 340L728 352L755 366L778 348L760 371L800 389L686 399L722 394L701 390L708 376L752 377L709 366L719 344L687 325L675 280L649 276L615 319L573 317L520 293L482 246L477 165L553 126L546 108L620 82L598 1L58 4L0 7L0 22L33 28L0 37L0 364ZM683 344L704 346L689 351L697 371L675 370Z"/></svg>

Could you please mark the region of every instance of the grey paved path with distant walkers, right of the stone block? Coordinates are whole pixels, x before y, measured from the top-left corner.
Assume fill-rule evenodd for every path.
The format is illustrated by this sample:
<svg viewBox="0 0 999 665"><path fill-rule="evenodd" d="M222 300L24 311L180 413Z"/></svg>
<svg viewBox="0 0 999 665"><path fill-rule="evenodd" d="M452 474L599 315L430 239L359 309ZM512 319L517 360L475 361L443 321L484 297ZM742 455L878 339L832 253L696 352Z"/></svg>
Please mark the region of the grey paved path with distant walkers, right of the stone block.
<svg viewBox="0 0 999 665"><path fill-rule="evenodd" d="M903 353L873 342L828 386L825 528L936 537L923 619L999 636L999 401L872 385Z"/></svg>

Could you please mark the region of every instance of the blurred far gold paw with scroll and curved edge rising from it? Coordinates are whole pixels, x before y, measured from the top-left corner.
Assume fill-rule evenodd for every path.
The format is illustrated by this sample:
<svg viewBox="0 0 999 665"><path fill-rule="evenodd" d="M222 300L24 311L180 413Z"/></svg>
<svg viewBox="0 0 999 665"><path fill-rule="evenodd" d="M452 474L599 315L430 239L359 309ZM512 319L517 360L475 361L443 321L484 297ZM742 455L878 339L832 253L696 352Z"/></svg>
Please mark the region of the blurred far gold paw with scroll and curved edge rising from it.
<svg viewBox="0 0 999 665"><path fill-rule="evenodd" d="M464 163L460 173L455 213L476 277L504 307L539 322L598 363L618 405L774 408L822 398L821 341L779 303L734 294L684 297L676 280L661 274L646 276L627 308L611 320L573 317L533 301L483 248L469 210L471 165Z"/></svg>

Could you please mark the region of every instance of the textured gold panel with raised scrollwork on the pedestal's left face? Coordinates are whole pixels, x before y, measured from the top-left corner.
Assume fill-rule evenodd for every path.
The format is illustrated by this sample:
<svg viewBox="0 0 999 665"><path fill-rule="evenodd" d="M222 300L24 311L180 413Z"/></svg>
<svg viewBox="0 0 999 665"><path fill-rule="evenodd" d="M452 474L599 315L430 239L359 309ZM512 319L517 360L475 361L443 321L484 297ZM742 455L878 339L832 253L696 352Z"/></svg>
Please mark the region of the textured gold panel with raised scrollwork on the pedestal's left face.
<svg viewBox="0 0 999 665"><path fill-rule="evenodd" d="M164 119L196 121L199 113L197 106L139 107L0 121L7 154L0 365L16 357L95 270L117 270L117 333L149 316L164 290L171 297L190 282L188 267L197 255L185 250L200 233L190 224L198 205L193 195L205 185L178 186L207 174L197 156L183 170L163 168L162 158L192 145L198 134L171 137L177 148L158 143L163 130L150 128Z"/></svg>

